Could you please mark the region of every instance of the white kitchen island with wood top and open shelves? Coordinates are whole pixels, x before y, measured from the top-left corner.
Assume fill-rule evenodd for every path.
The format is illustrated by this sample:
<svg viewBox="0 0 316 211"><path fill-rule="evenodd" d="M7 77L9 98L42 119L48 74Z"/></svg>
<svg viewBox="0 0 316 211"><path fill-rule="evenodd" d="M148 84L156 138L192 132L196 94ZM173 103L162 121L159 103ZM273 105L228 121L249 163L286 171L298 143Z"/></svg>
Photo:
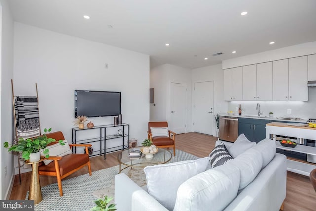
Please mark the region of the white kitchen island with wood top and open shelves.
<svg viewBox="0 0 316 211"><path fill-rule="evenodd" d="M298 143L304 143L305 139L316 140L316 128L306 127L306 126L293 126L287 123L271 122L266 125L266 137L276 141L276 136L289 136L296 137ZM276 141L276 148L305 153L311 158L316 158L316 147L297 145L295 148L283 147L279 141ZM297 160L287 159L287 170L295 173L299 173L305 176L309 176L310 172L316 168L315 163L311 162L300 162Z"/></svg>

